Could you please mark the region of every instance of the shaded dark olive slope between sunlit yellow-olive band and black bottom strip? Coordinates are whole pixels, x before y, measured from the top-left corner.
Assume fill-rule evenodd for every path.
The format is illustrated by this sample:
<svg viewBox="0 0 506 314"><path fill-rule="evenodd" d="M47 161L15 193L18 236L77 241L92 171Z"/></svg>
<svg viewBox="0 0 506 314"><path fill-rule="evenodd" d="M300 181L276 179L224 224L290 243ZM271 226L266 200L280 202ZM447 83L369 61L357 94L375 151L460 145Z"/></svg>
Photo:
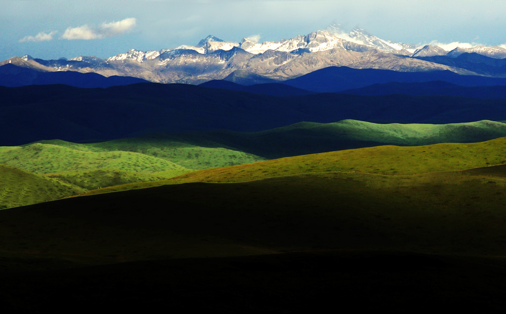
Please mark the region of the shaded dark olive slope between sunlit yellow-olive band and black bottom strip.
<svg viewBox="0 0 506 314"><path fill-rule="evenodd" d="M0 245L93 263L312 249L502 256L506 177L495 170L315 173L90 195L0 211Z"/></svg>

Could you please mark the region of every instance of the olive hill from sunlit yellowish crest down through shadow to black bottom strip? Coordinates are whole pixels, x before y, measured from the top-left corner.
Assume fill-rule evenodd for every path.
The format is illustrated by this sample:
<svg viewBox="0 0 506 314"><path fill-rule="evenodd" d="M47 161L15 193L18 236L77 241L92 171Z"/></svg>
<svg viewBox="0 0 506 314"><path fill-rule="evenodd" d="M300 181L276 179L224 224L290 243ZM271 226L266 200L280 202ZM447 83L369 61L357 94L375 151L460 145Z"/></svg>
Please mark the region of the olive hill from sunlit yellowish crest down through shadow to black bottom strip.
<svg viewBox="0 0 506 314"><path fill-rule="evenodd" d="M3 229L2 245L14 251L21 241L30 243L33 252L83 254L102 262L315 248L502 255L504 151L506 138L381 146L102 188L2 211L4 219L24 213L22 228L37 234L11 238L18 223L13 230ZM61 216L61 208L73 210ZM68 222L54 220L55 215ZM60 247L52 241L50 248L36 239L53 224L58 227L52 230L61 233L58 239L66 232L82 234ZM88 241L89 228L97 241L108 240L100 245Z"/></svg>

